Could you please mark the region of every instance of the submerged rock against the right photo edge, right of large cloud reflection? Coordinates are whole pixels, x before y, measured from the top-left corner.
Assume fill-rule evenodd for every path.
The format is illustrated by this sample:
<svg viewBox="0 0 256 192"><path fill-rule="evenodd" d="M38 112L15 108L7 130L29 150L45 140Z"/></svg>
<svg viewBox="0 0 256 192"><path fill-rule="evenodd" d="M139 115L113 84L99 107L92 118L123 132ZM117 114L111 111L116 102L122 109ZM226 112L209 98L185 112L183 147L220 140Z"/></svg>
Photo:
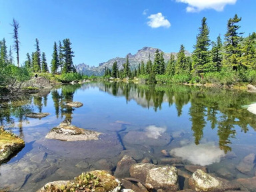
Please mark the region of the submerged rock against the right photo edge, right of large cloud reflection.
<svg viewBox="0 0 256 192"><path fill-rule="evenodd" d="M255 166L255 154L251 153L243 158L240 163L235 166L238 171L244 174L249 174Z"/></svg>

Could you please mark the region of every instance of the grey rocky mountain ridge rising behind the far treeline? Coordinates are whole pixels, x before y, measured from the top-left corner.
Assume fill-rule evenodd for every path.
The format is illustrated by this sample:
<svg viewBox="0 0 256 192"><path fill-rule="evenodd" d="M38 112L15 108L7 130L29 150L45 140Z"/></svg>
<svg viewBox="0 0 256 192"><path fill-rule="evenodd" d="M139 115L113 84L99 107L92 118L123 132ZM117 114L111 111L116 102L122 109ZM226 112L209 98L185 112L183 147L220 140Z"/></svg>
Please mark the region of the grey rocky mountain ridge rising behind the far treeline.
<svg viewBox="0 0 256 192"><path fill-rule="evenodd" d="M145 64L150 59L153 60L155 59L155 51L159 50L159 52L162 52L161 49L159 48L152 48L152 47L143 47L136 54L127 54L129 58L129 63L131 70L135 69L138 67L139 63L143 61ZM175 55L175 58L177 57L177 52L170 52L166 53L164 52L163 58L165 59L165 62L168 62L171 54ZM187 56L190 56L190 52L185 51L185 54ZM102 62L99 64L99 66L89 66L87 64L81 63L76 66L77 72L81 74L86 74L88 76L95 75L95 76L101 76L105 72L105 67L112 69L113 63L117 61L117 68L121 70L123 68L123 64L126 62L126 57L116 57L116 58L111 58L107 62Z"/></svg>

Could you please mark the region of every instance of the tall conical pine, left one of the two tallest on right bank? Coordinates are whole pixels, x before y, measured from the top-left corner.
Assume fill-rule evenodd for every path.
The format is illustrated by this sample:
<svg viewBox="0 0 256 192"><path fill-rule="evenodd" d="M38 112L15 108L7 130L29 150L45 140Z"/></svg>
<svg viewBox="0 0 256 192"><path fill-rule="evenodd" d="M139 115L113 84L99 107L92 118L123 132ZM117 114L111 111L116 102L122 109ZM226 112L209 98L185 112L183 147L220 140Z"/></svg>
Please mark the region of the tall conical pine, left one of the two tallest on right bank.
<svg viewBox="0 0 256 192"><path fill-rule="evenodd" d="M209 27L206 20L203 17L201 27L199 27L199 34L197 35L195 50L193 51L193 72L197 75L207 72L207 65L211 62Z"/></svg>

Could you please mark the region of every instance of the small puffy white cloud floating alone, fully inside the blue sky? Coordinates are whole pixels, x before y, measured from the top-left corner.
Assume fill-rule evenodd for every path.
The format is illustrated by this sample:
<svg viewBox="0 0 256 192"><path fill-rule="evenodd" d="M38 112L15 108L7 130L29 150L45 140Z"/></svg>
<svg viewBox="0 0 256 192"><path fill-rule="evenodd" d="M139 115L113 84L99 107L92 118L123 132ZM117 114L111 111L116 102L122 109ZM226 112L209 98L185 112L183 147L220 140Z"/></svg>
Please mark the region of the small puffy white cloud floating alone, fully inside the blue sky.
<svg viewBox="0 0 256 192"><path fill-rule="evenodd" d="M149 27L152 27L152 28L171 27L171 23L167 19L165 19L162 13L150 15L149 17L147 17L147 19L150 20L147 22L147 25L149 25Z"/></svg>

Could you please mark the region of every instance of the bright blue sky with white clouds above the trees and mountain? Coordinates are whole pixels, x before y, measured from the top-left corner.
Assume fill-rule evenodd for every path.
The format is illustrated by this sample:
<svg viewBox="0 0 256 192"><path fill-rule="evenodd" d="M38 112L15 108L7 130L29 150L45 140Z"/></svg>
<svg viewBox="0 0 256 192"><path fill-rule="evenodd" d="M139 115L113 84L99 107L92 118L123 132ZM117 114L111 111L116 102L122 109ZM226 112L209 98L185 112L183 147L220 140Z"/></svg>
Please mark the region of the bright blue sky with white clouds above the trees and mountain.
<svg viewBox="0 0 256 192"><path fill-rule="evenodd" d="M243 36L256 31L255 0L2 0L0 6L0 39L13 45L13 18L21 26L21 64L35 51L36 38L48 65L54 41L69 38L74 64L98 66L143 47L178 52L183 44L192 52L203 17L211 41L223 38L235 13Z"/></svg>

